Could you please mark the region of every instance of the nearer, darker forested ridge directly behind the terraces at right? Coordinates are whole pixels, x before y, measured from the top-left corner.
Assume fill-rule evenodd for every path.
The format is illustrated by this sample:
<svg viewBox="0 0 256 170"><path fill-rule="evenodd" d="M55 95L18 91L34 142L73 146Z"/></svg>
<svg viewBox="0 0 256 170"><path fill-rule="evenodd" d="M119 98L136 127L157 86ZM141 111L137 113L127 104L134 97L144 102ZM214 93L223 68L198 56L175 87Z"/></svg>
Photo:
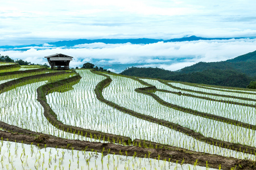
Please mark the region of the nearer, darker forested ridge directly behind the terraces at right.
<svg viewBox="0 0 256 170"><path fill-rule="evenodd" d="M183 73L179 71L169 71L159 68L138 68L131 67L123 71L123 75L141 76L147 78L159 78L164 80L174 80L180 82L209 84L228 87L253 88L251 76L236 70L208 69L203 71L194 71L192 73ZM248 86L248 84L251 85ZM256 86L256 82L255 82Z"/></svg>

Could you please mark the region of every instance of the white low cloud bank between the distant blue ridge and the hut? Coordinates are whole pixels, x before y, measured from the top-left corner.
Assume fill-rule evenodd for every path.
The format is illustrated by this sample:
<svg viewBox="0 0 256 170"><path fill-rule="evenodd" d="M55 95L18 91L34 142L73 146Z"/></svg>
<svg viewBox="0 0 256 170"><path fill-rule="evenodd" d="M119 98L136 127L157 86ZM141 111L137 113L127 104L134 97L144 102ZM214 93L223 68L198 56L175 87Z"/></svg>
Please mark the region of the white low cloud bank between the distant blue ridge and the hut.
<svg viewBox="0 0 256 170"><path fill-rule="evenodd" d="M179 70L197 62L225 61L253 52L256 39L200 40L185 42L157 42L154 44L82 44L79 48L53 48L29 50L0 50L0 54L31 63L47 63L45 56L63 53L73 56L71 67L85 62L107 64L135 64ZM47 45L45 46L47 47ZM147 64L147 65L145 65Z"/></svg>

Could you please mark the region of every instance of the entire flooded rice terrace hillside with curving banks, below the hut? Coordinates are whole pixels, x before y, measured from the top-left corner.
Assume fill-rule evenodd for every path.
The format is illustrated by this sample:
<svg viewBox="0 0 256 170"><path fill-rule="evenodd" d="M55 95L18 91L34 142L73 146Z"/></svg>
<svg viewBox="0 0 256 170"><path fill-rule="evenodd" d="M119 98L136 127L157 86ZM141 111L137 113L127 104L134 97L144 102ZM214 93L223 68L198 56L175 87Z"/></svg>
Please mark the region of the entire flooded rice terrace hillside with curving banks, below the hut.
<svg viewBox="0 0 256 170"><path fill-rule="evenodd" d="M255 90L7 62L0 83L1 169L256 169Z"/></svg>

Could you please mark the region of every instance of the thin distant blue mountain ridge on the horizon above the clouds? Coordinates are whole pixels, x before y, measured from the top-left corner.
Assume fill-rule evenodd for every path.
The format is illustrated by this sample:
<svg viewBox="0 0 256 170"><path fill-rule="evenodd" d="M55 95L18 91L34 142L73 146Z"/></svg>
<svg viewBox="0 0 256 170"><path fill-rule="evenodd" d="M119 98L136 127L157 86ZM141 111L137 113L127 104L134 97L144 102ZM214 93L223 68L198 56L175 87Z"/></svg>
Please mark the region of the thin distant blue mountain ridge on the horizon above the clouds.
<svg viewBox="0 0 256 170"><path fill-rule="evenodd" d="M66 46L72 47L79 44L92 44L96 42L102 42L105 44L151 44L156 42L182 42L182 41L198 41L198 40L230 40L230 39L244 39L244 37L233 37L233 38L204 38L204 37L197 37L197 36L189 36L189 37L182 37L180 39L170 39L170 40L163 40L163 39L96 39L96 40L88 40L88 39L78 39L78 40L67 40L67 41L56 41L56 42L46 42L49 45L54 47ZM11 48L24 48L30 46L43 46L43 44L30 44L30 45L4 45L0 46L3 49L11 49Z"/></svg>

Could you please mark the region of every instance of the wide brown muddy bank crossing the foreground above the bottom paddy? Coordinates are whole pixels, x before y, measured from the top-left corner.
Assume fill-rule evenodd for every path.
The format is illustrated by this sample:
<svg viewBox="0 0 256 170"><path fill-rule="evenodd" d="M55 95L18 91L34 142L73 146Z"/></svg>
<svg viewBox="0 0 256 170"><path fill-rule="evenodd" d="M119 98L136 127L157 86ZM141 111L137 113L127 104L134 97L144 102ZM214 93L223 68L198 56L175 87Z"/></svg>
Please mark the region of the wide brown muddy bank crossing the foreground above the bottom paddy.
<svg viewBox="0 0 256 170"><path fill-rule="evenodd" d="M0 122L1 125L1 122ZM17 129L18 127L12 127L7 125L9 129ZM19 129L19 128L18 128ZM17 129L17 130L18 130ZM63 139L54 137L52 135L35 133L33 131L27 131L24 133L24 129L19 129L20 133L11 133L7 131L0 131L0 137L4 141L26 143L28 145L36 145L41 147L53 147L53 148L66 148L69 150L80 151L97 151L102 154L115 154L136 156L138 158L152 158L159 160L166 160L167 162L183 162L184 164L195 164L199 166L210 168L230 169L234 167L241 167L240 169L253 169L256 167L255 162L250 160L240 160L236 158L226 158L225 156L217 156L212 154L205 154L202 152L193 152L182 148L168 147L168 148L144 148L143 146L121 146L113 143L100 143L100 142L88 142L71 139ZM26 131L26 130L25 130ZM40 138L41 140L38 140ZM145 141L145 143L148 143ZM153 143L154 145L154 143Z"/></svg>

